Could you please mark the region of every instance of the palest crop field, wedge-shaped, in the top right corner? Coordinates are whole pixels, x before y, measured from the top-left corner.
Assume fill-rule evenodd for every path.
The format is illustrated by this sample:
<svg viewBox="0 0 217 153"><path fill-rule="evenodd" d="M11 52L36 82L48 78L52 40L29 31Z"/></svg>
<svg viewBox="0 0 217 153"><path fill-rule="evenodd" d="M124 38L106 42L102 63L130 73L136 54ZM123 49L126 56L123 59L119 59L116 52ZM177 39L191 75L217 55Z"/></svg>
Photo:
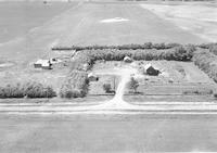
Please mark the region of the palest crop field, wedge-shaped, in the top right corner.
<svg viewBox="0 0 217 153"><path fill-rule="evenodd" d="M161 18L209 41L217 40L217 4L210 3L174 3L141 4Z"/></svg>

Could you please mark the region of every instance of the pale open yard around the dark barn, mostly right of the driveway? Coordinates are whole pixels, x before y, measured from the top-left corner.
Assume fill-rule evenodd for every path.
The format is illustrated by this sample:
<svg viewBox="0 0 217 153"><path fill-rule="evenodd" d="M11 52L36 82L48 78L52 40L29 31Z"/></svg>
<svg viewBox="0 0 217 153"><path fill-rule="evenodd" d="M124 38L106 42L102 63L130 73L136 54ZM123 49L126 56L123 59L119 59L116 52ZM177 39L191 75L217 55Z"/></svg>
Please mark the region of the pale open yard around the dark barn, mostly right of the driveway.
<svg viewBox="0 0 217 153"><path fill-rule="evenodd" d="M161 71L159 76L143 75L140 67L152 64ZM115 74L115 68L122 68L129 72L128 77L133 76L139 80L138 93L132 93L128 87L125 87L124 100L130 103L137 102L215 102L213 97L216 84L192 62L177 61L136 61L131 64L124 62L98 62L93 66L93 72ZM130 68L135 69L130 73ZM103 77L103 76L102 76ZM112 79L113 80L113 79ZM129 81L129 80L128 80ZM113 82L112 82L113 84ZM127 82L126 82L127 84ZM102 90L101 84L101 90ZM100 89L98 89L100 91Z"/></svg>

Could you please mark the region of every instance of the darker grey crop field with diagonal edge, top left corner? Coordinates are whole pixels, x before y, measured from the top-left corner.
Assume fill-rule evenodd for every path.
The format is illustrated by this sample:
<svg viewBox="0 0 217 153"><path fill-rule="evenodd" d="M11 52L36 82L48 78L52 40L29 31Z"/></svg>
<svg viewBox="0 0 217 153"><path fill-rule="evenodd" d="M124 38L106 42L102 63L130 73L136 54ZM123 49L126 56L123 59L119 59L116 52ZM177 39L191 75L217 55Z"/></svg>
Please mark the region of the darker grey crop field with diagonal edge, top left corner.
<svg viewBox="0 0 217 153"><path fill-rule="evenodd" d="M39 28L55 15L69 9L74 3L52 2L1 2L0 43L24 37L29 30Z"/></svg>

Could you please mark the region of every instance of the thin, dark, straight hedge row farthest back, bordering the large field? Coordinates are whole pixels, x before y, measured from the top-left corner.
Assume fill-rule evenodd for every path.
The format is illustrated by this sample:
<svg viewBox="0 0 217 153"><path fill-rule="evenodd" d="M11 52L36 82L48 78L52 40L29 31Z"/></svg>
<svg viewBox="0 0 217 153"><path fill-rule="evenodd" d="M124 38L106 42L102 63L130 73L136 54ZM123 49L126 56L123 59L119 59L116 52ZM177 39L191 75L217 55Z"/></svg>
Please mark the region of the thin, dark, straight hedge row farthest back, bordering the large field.
<svg viewBox="0 0 217 153"><path fill-rule="evenodd" d="M179 43L152 43L146 42L143 44L123 44L123 46L87 46L87 47L79 47L79 46L72 46L72 47L53 47L52 50L104 50L104 49L116 49L116 50L138 50L138 49L156 49L156 50L163 50L163 49L171 49L174 47L179 47L181 44Z"/></svg>

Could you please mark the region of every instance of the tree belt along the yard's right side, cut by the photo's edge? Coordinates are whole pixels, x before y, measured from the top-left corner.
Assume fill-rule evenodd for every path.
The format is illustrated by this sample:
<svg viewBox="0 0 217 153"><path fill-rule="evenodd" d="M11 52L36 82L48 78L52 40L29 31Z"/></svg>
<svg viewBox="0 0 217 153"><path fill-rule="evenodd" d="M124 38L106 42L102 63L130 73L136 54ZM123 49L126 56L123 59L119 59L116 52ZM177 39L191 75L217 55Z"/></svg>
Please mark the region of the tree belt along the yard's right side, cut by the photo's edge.
<svg viewBox="0 0 217 153"><path fill-rule="evenodd" d="M206 49L194 52L193 62L217 82L217 55Z"/></svg>

